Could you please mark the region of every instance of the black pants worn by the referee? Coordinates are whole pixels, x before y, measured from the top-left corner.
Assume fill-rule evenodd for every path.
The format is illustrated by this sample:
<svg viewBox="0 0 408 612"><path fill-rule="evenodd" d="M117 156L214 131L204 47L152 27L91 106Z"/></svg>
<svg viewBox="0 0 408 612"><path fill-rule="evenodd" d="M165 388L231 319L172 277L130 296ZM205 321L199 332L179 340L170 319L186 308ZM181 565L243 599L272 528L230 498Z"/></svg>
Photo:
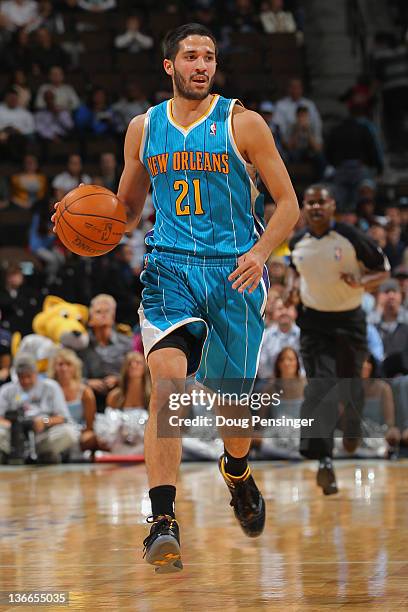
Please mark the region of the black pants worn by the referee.
<svg viewBox="0 0 408 612"><path fill-rule="evenodd" d="M344 407L343 432L360 437L364 392L361 369L367 355L367 330L362 309L319 312L303 308L300 352L308 379L301 408L300 452L308 459L333 455L333 433Z"/></svg>

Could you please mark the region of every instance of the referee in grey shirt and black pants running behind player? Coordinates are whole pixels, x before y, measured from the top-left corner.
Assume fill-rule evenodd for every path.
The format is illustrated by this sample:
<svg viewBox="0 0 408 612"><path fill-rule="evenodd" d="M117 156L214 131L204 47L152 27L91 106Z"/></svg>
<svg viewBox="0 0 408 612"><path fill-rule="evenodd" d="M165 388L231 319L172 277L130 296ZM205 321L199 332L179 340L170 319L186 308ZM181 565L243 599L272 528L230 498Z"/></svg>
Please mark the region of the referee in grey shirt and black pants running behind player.
<svg viewBox="0 0 408 612"><path fill-rule="evenodd" d="M289 246L300 277L297 324L308 378L301 416L314 421L311 429L301 431L300 452L319 460L317 484L331 495L338 490L332 457L339 400L344 447L352 452L361 438L360 377L367 354L362 297L387 278L389 263L371 238L335 222L336 203L326 185L308 187L303 206L307 225Z"/></svg>

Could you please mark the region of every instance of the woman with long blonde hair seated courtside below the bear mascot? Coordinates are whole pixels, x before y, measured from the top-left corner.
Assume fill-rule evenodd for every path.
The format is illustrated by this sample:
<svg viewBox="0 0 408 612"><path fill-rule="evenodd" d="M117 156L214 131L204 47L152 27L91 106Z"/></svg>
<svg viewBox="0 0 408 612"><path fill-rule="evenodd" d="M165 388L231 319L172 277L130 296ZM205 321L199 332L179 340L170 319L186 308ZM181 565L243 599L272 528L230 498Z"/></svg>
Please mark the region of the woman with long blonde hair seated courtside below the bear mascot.
<svg viewBox="0 0 408 612"><path fill-rule="evenodd" d="M48 371L64 393L71 418L79 426L81 450L108 450L94 432L96 400L92 389L82 382L82 363L74 351L59 349Z"/></svg>

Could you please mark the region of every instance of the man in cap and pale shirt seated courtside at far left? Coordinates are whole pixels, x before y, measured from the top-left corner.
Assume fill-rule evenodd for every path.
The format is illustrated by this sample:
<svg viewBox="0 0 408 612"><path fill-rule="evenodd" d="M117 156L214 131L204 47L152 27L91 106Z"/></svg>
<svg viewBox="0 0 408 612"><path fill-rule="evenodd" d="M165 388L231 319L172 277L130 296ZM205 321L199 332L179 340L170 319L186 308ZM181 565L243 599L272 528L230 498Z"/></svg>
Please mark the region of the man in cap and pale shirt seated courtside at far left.
<svg viewBox="0 0 408 612"><path fill-rule="evenodd" d="M17 382L0 389L0 450L9 455L12 419L23 410L25 427L35 434L38 463L59 463L78 439L61 387L54 380L38 377L29 354L16 357Z"/></svg>

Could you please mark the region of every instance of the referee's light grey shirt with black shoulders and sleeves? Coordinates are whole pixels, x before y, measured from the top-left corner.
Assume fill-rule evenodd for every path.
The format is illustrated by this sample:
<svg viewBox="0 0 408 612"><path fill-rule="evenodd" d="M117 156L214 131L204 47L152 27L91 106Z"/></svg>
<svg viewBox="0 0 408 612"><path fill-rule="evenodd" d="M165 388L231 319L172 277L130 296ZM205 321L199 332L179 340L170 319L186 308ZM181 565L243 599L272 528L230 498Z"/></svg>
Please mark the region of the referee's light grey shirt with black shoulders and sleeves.
<svg viewBox="0 0 408 612"><path fill-rule="evenodd" d="M344 312L361 306L364 290L350 287L342 274L357 279L367 272L390 269L379 246L353 225L333 222L322 236L309 228L290 241L293 267L300 275L304 306L324 312Z"/></svg>

